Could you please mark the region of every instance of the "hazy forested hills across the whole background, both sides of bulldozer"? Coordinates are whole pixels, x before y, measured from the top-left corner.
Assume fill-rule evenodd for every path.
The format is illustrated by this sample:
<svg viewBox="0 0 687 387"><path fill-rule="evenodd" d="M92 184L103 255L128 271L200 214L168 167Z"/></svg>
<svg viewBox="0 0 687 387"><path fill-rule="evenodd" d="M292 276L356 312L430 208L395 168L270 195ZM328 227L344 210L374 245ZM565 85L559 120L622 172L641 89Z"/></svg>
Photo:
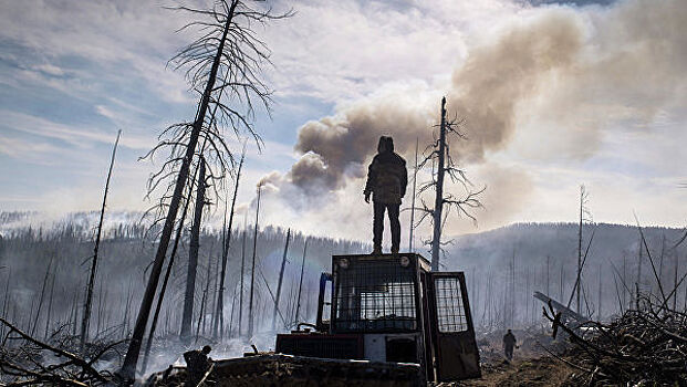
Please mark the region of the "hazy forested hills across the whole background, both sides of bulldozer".
<svg viewBox="0 0 687 387"><path fill-rule="evenodd" d="M95 212L72 213L59 221L38 222L37 212L0 213L0 307L2 314L30 332L45 334L69 324L76 330L82 308L89 258L93 253ZM124 337L132 328L147 278L155 243L152 232L137 222L139 215L112 213L101 244L92 331ZM42 224L42 226L37 226ZM238 334L238 315L243 258L243 313L247 325L250 266L253 254L253 224L235 228L231 234L225 322L228 335ZM478 328L527 326L541 322L542 303L534 291L568 304L577 265L576 223L519 223L491 231L456 237L446 245L441 270L465 271L470 306ZM607 318L626 308L638 289L658 294L656 276L673 290L676 278L687 271L686 248L674 248L684 236L681 229L644 229L652 262L643 250L634 226L583 224L582 253L590 238L582 275L583 314ZM371 247L360 241L313 238L292 232L284 271L278 328L287 331L298 322L313 322L320 273L330 271L332 254L366 253ZM211 331L211 311L218 287L221 230L204 229L196 286L194 330ZM257 332L272 322L272 303L281 265L287 230L272 226L258 232L254 275ZM296 318L298 290L304 243L308 240L301 312ZM429 258L427 251L418 253ZM641 260L639 260L641 259ZM188 234L183 239L170 280L171 293L165 297L159 335L178 332L188 260ZM636 285L635 285L636 283ZM687 303L687 284L681 284L672 302ZM52 300L52 301L51 301ZM46 305L51 304L49 308ZM571 303L575 308L575 301ZM202 313L201 313L202 311ZM74 331L76 332L76 331Z"/></svg>

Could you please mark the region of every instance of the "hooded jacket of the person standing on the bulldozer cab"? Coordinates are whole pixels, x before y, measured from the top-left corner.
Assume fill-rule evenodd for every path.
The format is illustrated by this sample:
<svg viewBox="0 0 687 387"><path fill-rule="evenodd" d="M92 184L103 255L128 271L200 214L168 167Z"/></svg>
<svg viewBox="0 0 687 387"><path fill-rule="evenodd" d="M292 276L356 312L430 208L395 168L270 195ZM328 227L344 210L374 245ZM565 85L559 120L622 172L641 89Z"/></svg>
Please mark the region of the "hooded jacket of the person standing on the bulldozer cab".
<svg viewBox="0 0 687 387"><path fill-rule="evenodd" d="M392 137L382 136L377 146L377 155L367 169L365 194L373 194L372 200L383 203L400 203L406 195L408 171L406 160L394 153Z"/></svg>

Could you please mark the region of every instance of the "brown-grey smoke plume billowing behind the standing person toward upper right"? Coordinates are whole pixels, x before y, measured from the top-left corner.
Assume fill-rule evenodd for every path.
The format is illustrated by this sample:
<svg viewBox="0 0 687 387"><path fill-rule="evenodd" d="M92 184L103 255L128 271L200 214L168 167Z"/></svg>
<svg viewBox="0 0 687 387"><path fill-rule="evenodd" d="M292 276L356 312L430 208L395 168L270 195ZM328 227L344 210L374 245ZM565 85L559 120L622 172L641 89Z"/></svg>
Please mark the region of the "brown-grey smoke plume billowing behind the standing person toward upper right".
<svg viewBox="0 0 687 387"><path fill-rule="evenodd" d="M492 40L469 48L449 87L395 84L305 123L294 147L301 159L272 180L291 186L284 196L295 187L299 195L339 200L350 186L362 185L379 135L394 136L404 155L412 155L416 138L428 144L445 94L449 116L466 119L468 139L452 144L454 157L490 191L499 190L485 196L497 206L486 223L498 226L534 192L528 174L499 166L503 155L576 163L594 157L605 136L650 130L666 109L685 109L685 18L687 7L677 0L528 9L499 25ZM523 139L532 145L512 149ZM501 200L508 197L513 200Z"/></svg>

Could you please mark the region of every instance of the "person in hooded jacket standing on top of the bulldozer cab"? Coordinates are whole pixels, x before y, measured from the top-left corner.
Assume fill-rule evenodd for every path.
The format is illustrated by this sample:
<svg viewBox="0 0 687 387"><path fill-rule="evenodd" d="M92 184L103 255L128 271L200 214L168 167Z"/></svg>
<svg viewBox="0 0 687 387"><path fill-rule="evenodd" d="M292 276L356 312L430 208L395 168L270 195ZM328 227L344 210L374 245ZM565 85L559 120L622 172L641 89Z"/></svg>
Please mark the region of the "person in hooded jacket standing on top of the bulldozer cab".
<svg viewBox="0 0 687 387"><path fill-rule="evenodd" d="M379 137L377 155L372 159L367 169L365 184L365 202L372 202L373 217L373 254L382 254L382 234L384 233L384 212L388 212L392 228L392 254L397 254L400 247L400 222L398 213L400 199L406 195L408 171L406 160L394 153L394 139L388 136Z"/></svg>

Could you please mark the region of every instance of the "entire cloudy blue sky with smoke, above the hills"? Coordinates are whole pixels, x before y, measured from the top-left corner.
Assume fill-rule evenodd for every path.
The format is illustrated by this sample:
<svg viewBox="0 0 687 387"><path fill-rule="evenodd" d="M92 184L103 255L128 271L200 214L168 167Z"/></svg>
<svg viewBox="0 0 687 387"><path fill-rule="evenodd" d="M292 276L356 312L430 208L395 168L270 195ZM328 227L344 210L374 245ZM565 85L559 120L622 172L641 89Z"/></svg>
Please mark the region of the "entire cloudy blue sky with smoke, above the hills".
<svg viewBox="0 0 687 387"><path fill-rule="evenodd" d="M367 238L375 138L393 135L412 167L447 95L466 119L455 156L487 186L479 228L452 218L449 232L574 221L581 184L596 221L685 224L687 2L272 3L296 14L258 29L275 103L239 195L244 208L267 177L263 221ZM166 67L190 40L170 4L0 1L0 210L96 209L117 129L110 208L150 205L155 166L138 157L196 107Z"/></svg>

